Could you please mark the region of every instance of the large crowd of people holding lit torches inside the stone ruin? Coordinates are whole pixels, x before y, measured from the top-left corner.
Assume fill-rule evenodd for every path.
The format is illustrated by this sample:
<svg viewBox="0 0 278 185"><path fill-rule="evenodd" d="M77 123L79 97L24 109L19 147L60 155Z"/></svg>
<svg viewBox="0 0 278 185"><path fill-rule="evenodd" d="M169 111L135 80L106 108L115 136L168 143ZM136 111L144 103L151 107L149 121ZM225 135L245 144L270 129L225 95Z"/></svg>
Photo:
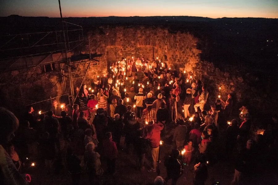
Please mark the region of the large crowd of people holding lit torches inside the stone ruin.
<svg viewBox="0 0 278 185"><path fill-rule="evenodd" d="M75 89L72 107L62 102L58 105L59 100L54 100L52 109L38 117L29 107L19 128L14 114L1 108L1 156L10 156L9 161L19 171L23 158L41 158L47 174L53 169L59 173L64 162L73 184L78 184L84 171L90 182L100 183L103 174L115 175L119 149L135 154L138 171L145 170L146 155L150 155L152 163L147 170L159 173L161 138L173 133L173 150L164 160L167 176L165 180L156 178L156 182L172 179L176 184L184 167L192 164L194 185L203 185L208 163L221 158L216 149L219 132L223 132L225 156L238 151L231 184L237 184L242 173L254 170L255 147L261 145L262 137L251 132L254 127L248 106L243 105L239 117L232 119L233 98L228 94L226 101L217 99L210 109L205 109L207 84L193 72L171 70L161 60L123 58L111 64L109 74L98 76L90 85ZM273 121L263 136L275 151L276 115ZM10 164L6 167L12 169ZM15 181L23 182L17 170L13 169ZM8 178L11 171L1 173L6 177L3 184L16 184Z"/></svg>

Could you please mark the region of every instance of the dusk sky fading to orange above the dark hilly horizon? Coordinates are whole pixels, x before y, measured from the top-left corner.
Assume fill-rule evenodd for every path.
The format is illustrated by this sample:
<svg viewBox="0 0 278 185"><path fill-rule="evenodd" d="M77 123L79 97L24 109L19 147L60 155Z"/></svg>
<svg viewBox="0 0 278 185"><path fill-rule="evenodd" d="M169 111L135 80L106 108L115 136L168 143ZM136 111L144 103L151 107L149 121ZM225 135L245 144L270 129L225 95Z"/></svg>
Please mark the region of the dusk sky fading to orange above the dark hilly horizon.
<svg viewBox="0 0 278 185"><path fill-rule="evenodd" d="M63 17L171 16L278 18L278 0L61 0ZM0 16L60 17L58 0L2 0Z"/></svg>

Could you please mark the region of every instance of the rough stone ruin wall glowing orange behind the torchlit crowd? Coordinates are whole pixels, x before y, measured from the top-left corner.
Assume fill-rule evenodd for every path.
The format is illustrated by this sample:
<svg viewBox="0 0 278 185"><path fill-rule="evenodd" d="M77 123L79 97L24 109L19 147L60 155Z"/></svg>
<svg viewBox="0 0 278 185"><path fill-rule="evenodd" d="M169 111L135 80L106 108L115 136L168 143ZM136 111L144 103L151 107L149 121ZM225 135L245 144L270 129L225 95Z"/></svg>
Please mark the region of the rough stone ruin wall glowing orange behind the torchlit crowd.
<svg viewBox="0 0 278 185"><path fill-rule="evenodd" d="M164 28L147 27L99 27L89 31L91 53L102 54L95 58L99 62L92 62L88 68L84 82L89 85L97 78L97 75L107 73L107 64L120 60L122 57L144 56L151 59L158 57L166 61L172 69L192 71L204 83L209 85L208 105L215 102L218 95L226 100L228 93L235 97L235 110L240 102L249 100L248 103L255 108L270 110L269 96L259 92L260 80L246 73L240 76L236 67L229 72L222 72L212 63L201 61L201 51L197 48L198 39L189 33L170 33ZM88 53L88 40L82 47L82 53ZM41 101L49 97L64 94L63 81L59 65L53 72L43 72L40 67L24 69L12 72L2 72L0 78L1 96L4 97L2 105L27 105L32 101ZM77 67L77 64L74 64ZM87 63L79 64L76 77L83 76ZM73 69L74 72L74 69ZM74 87L80 86L82 78L74 79ZM256 84L251 85L251 84ZM219 87L221 86L221 91ZM251 100L251 101L250 101ZM277 100L275 100L277 101ZM277 102L276 102L277 103ZM277 104L276 104L277 105ZM207 107L209 108L209 107ZM257 109L256 109L257 111Z"/></svg>

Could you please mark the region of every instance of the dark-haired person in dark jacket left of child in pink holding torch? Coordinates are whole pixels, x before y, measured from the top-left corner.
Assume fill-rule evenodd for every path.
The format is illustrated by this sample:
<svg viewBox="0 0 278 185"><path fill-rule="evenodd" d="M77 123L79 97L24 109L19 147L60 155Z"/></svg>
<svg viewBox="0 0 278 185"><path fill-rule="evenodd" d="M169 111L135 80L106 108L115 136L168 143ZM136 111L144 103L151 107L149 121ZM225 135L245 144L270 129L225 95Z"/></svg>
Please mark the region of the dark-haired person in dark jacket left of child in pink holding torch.
<svg viewBox="0 0 278 185"><path fill-rule="evenodd" d="M182 174L181 164L178 161L178 157L179 150L173 149L171 156L168 156L164 162L167 171L167 177L165 179L166 183L169 179L172 179L172 185L175 185Z"/></svg>

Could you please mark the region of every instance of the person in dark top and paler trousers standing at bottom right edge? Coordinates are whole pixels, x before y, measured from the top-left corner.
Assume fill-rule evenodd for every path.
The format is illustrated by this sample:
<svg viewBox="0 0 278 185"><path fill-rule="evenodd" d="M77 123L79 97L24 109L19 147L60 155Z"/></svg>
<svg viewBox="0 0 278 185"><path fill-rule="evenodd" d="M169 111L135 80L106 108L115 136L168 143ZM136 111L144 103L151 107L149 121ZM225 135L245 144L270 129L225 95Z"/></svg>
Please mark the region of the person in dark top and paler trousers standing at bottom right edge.
<svg viewBox="0 0 278 185"><path fill-rule="evenodd" d="M234 179L231 185L238 184L242 172L253 172L255 164L255 153L253 150L254 142L249 139L246 142L246 147L239 152L237 158L235 169L234 169Z"/></svg>

